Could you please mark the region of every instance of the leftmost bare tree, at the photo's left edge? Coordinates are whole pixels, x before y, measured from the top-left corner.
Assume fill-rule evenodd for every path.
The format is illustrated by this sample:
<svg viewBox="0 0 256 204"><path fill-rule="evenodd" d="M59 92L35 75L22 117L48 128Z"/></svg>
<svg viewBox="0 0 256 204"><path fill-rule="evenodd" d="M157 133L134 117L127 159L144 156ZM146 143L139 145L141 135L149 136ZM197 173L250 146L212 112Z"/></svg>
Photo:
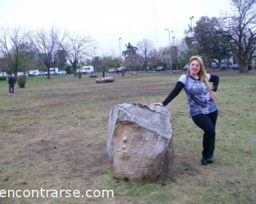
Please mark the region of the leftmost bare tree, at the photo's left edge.
<svg viewBox="0 0 256 204"><path fill-rule="evenodd" d="M27 32L18 28L1 28L0 31L0 54L6 59L8 67L17 77L20 65L27 60Z"/></svg>

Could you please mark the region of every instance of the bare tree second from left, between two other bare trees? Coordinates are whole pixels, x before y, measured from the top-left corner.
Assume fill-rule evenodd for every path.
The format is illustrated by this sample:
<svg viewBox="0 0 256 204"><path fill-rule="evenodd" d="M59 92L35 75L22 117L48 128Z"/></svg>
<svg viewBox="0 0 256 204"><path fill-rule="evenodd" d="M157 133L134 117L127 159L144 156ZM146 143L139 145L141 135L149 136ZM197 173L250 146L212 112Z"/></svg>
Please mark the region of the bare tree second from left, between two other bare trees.
<svg viewBox="0 0 256 204"><path fill-rule="evenodd" d="M34 35L29 35L30 49L37 58L47 67L47 76L50 79L50 68L55 65L56 50L58 44L56 36L58 32L55 28L51 28L49 32L45 30L36 31Z"/></svg>

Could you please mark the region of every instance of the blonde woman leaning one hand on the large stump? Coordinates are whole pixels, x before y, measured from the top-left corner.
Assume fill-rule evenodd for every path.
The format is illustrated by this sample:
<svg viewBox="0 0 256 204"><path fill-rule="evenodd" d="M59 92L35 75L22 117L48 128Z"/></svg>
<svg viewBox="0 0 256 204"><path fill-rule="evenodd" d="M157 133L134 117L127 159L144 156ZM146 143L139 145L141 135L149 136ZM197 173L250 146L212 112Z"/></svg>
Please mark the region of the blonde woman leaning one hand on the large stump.
<svg viewBox="0 0 256 204"><path fill-rule="evenodd" d="M213 82L213 86L209 82ZM206 73L202 59L193 56L190 58L188 73L181 75L174 90L162 103L154 104L166 106L184 88L189 114L195 124L204 131L201 158L203 165L214 162L215 125L218 116L215 99L218 85L219 77Z"/></svg>

